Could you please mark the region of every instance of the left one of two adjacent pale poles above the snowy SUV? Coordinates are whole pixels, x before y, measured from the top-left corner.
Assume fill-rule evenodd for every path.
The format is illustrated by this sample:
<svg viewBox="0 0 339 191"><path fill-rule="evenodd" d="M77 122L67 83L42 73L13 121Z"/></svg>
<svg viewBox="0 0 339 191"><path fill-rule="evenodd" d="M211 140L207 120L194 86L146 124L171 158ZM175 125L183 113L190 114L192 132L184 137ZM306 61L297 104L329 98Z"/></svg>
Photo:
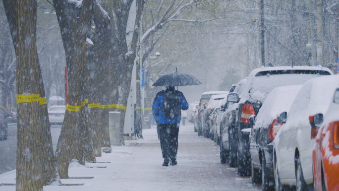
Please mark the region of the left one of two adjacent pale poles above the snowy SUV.
<svg viewBox="0 0 339 191"><path fill-rule="evenodd" d="M314 1L313 0L307 0L307 10L311 13L307 14L307 45L306 49L308 52L308 58L309 58L309 64L311 66L317 65L316 60L316 43L315 43L315 36L314 36Z"/></svg>

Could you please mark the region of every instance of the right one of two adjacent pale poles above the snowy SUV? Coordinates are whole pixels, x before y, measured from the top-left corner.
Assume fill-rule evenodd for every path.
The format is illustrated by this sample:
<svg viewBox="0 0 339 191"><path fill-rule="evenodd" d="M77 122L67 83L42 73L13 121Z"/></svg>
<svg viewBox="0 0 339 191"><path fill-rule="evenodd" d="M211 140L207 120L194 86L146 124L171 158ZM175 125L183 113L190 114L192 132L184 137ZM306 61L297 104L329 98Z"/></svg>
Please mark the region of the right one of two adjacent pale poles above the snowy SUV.
<svg viewBox="0 0 339 191"><path fill-rule="evenodd" d="M317 65L323 64L323 0L318 0L317 23Z"/></svg>

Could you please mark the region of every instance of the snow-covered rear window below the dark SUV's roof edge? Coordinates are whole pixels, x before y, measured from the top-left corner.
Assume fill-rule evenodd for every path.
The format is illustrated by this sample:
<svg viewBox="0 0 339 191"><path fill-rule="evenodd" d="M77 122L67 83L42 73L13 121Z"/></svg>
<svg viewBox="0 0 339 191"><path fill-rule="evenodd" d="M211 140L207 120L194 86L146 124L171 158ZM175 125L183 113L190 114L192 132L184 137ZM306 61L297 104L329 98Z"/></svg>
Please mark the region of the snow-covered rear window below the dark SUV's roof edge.
<svg viewBox="0 0 339 191"><path fill-rule="evenodd" d="M305 83L309 79L320 76L321 74L317 72L313 73L296 72L292 74L291 73L280 74L279 72L276 72L274 75L271 75L270 72L266 72L266 75L256 75L254 77L251 77L251 80L247 80L248 83L246 84L246 90L243 91L242 95L244 96L245 101L249 102L258 101L260 103L263 103L268 94L276 87L286 85L299 85Z"/></svg>

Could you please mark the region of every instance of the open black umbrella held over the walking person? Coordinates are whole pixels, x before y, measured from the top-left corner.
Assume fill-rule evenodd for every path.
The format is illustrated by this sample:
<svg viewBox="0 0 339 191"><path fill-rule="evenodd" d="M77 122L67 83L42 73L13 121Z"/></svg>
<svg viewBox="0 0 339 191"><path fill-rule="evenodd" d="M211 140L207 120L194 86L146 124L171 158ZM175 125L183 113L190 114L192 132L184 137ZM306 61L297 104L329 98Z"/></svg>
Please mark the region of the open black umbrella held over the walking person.
<svg viewBox="0 0 339 191"><path fill-rule="evenodd" d="M201 82L192 75L176 71L161 76L153 86L185 86L199 84L201 84Z"/></svg>

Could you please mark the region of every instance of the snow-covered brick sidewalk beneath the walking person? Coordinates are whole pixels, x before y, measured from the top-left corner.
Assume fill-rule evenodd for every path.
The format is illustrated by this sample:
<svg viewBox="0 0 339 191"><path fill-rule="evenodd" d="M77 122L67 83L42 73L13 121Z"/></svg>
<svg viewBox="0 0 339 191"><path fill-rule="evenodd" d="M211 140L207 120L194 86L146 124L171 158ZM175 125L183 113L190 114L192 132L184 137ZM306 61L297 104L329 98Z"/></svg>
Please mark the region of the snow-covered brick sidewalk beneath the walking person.
<svg viewBox="0 0 339 191"><path fill-rule="evenodd" d="M72 163L65 186L44 191L250 191L249 177L238 177L236 168L220 163L219 146L198 137L192 124L180 125L176 166L163 167L155 128L143 130L144 140L125 141L103 153L96 164ZM0 191L15 191L15 170L0 175ZM67 185L67 186L66 186ZM77 185L77 186L76 186Z"/></svg>

